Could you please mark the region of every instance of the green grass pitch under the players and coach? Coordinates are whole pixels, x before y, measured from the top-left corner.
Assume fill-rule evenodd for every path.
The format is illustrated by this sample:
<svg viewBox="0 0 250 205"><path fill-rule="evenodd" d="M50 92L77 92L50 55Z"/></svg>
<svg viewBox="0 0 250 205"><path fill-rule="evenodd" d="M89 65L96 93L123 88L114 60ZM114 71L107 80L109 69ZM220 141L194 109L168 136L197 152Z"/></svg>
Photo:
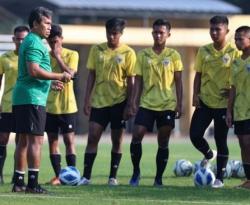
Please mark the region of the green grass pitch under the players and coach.
<svg viewBox="0 0 250 205"><path fill-rule="evenodd" d="M82 171L84 145L77 146L77 167ZM212 145L214 147L214 145ZM214 190L211 188L196 188L192 177L176 178L173 176L173 164L177 159L188 159L192 162L202 158L188 140L171 140L170 158L164 175L165 186L161 189L152 186L155 174L156 142L143 144L141 161L142 179L139 187L128 186L132 172L129 156L129 144L123 146L124 154L118 172L120 186L109 187L107 177L110 164L110 144L101 143L92 173L92 185L84 187L44 186L51 194L45 196L11 193L10 179L13 169L13 145L8 146L8 158L5 163L5 184L0 186L0 205L67 205L67 204L172 204L172 205L245 205L250 202L249 190L235 189L241 183L240 179L225 180L225 188ZM230 159L240 160L238 142L229 142ZM63 149L62 149L63 150ZM52 168L48 157L48 145L45 143L39 180L45 183L52 176ZM65 160L63 166L65 166Z"/></svg>

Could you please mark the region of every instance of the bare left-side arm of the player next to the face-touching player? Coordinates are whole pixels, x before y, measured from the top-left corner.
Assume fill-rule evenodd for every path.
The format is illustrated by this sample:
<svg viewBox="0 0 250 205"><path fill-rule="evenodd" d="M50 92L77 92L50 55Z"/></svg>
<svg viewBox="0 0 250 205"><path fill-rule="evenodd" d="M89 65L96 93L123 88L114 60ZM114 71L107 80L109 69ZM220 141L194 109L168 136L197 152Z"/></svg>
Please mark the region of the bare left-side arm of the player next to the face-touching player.
<svg viewBox="0 0 250 205"><path fill-rule="evenodd" d="M96 78L95 71L94 70L89 71L86 90L85 90L84 106L83 106L83 112L87 116L90 115L90 110L91 110L90 96L95 84L95 78Z"/></svg>

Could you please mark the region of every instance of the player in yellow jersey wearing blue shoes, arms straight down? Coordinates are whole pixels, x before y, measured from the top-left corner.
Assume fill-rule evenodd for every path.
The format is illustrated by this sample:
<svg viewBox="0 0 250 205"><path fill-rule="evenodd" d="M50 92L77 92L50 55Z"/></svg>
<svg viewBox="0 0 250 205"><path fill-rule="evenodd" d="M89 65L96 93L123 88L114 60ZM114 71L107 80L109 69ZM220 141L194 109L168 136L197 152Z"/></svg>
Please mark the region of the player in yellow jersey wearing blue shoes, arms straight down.
<svg viewBox="0 0 250 205"><path fill-rule="evenodd" d="M181 116L183 65L179 53L166 47L170 29L168 21L157 19L153 23L153 47L143 49L137 55L130 113L136 112L138 102L139 110L130 144L133 163L133 175L129 182L131 186L139 185L141 142L145 133L152 131L155 122L158 129L158 151L154 186L163 185L162 176L169 155L169 137L175 127L175 118Z"/></svg>

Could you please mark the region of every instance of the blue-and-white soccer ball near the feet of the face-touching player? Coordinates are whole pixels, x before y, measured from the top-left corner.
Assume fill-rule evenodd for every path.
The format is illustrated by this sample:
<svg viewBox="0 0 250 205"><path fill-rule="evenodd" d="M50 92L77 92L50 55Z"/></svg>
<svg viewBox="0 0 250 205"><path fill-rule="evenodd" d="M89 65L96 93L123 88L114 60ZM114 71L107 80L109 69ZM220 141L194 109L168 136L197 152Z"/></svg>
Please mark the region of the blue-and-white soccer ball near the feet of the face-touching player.
<svg viewBox="0 0 250 205"><path fill-rule="evenodd" d="M76 167L68 166L61 169L59 173L59 179L64 185L76 185L80 179L81 175L79 170Z"/></svg>

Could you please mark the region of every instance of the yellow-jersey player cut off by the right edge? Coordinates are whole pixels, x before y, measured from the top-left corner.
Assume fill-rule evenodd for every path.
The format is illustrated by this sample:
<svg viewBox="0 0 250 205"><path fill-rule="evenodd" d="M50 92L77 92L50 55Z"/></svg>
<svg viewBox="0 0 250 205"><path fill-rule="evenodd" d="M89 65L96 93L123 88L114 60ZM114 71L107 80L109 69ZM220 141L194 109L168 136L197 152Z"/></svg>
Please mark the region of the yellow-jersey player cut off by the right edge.
<svg viewBox="0 0 250 205"><path fill-rule="evenodd" d="M242 51L231 69L231 89L227 108L227 125L238 136L247 180L239 187L250 189L250 27L241 26L235 32L235 44Z"/></svg>

